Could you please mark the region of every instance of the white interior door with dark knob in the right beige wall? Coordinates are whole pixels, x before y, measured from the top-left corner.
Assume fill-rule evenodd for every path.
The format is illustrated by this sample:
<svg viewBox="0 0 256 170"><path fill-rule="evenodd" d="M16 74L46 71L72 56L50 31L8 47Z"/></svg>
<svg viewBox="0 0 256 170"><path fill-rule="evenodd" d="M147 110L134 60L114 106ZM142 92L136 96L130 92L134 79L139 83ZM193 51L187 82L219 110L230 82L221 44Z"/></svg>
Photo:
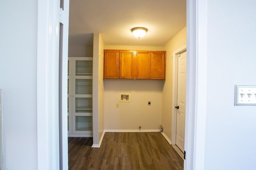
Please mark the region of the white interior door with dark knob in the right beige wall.
<svg viewBox="0 0 256 170"><path fill-rule="evenodd" d="M178 55L176 145L184 152L186 115L186 51Z"/></svg>

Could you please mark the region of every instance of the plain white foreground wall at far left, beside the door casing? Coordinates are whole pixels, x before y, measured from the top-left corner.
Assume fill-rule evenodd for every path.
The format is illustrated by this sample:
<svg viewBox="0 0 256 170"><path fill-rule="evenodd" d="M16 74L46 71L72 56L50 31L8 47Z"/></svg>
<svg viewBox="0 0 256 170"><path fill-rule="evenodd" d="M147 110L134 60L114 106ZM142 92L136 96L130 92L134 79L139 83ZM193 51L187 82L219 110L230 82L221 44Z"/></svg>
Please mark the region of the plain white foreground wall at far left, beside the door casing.
<svg viewBox="0 0 256 170"><path fill-rule="evenodd" d="M37 169L37 1L0 1L5 170Z"/></svg>

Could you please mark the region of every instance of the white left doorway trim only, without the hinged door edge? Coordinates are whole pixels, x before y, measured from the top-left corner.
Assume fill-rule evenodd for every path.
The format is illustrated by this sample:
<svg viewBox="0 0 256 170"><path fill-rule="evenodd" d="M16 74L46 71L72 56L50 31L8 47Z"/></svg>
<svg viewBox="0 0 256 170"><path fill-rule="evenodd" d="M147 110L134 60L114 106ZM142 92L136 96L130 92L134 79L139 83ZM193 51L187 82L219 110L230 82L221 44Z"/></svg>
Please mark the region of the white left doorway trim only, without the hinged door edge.
<svg viewBox="0 0 256 170"><path fill-rule="evenodd" d="M59 170L59 20L60 0L38 0L37 164Z"/></svg>

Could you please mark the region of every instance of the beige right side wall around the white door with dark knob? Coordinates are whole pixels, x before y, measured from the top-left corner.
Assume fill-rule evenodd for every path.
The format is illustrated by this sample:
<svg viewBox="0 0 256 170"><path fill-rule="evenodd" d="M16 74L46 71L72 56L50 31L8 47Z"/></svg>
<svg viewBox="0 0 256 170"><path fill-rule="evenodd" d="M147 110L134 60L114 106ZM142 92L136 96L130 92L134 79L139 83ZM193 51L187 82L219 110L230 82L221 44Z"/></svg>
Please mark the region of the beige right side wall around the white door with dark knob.
<svg viewBox="0 0 256 170"><path fill-rule="evenodd" d="M173 52L186 45L186 27L175 35L166 45L166 80L162 91L162 126L165 135L171 139L172 136L172 55Z"/></svg>

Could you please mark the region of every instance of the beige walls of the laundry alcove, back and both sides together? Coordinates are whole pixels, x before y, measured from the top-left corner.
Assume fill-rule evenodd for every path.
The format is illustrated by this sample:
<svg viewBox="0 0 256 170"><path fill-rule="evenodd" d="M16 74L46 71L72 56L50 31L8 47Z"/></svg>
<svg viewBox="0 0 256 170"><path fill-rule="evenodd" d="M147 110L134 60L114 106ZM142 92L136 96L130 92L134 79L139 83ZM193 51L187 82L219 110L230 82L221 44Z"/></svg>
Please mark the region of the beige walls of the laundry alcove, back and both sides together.
<svg viewBox="0 0 256 170"><path fill-rule="evenodd" d="M93 99L94 144L99 144L104 129L138 131L138 126L143 131L158 130L163 125L164 133L171 139L172 53L184 45L186 27L164 47L104 45L101 35L94 33L93 93L98 94ZM104 49L167 51L166 80L103 79ZM72 54L83 55L83 51L81 49ZM119 102L121 92L130 93L131 101ZM148 106L148 101L151 101L151 106ZM119 107L116 107L117 103Z"/></svg>

